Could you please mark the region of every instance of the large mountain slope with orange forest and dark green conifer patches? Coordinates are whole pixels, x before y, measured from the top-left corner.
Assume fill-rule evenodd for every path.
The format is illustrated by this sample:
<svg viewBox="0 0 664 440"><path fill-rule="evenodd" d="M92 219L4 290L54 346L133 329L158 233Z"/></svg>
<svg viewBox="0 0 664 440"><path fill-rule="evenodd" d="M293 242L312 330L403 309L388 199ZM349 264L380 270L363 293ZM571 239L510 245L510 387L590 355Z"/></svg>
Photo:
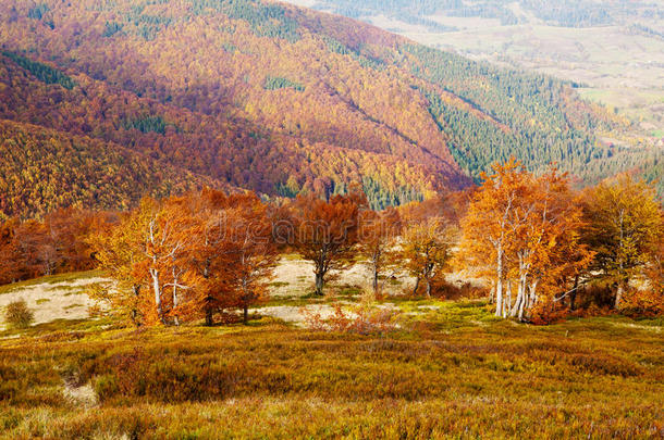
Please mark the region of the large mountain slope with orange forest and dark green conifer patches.
<svg viewBox="0 0 664 440"><path fill-rule="evenodd" d="M359 180L380 208L462 188L511 155L577 171L623 150L598 136L624 122L571 84L291 5L12 0L0 24L0 118L113 146L184 180L268 196ZM152 176L128 186L165 185ZM88 201L66 192L50 203Z"/></svg>

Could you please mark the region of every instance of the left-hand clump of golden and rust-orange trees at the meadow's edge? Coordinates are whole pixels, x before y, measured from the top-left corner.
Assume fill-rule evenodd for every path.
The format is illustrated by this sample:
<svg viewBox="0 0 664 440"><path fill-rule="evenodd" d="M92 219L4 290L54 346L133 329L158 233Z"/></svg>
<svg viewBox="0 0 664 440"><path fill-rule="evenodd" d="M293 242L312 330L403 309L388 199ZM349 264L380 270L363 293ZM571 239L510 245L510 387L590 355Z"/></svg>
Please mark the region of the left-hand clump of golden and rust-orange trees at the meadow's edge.
<svg viewBox="0 0 664 440"><path fill-rule="evenodd" d="M253 193L145 199L90 242L115 288L98 292L135 324L180 325L262 300L276 264L270 209Z"/></svg>

